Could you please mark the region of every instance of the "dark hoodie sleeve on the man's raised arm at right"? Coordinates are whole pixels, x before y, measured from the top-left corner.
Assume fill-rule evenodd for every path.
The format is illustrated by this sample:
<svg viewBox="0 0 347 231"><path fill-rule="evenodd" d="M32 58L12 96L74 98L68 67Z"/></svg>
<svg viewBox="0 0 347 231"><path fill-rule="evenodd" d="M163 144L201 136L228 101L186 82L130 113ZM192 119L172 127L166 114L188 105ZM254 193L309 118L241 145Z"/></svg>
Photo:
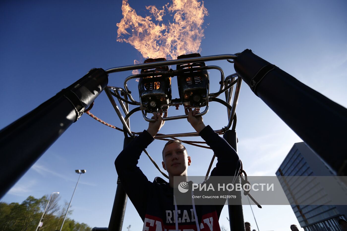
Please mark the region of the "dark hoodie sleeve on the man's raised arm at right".
<svg viewBox="0 0 347 231"><path fill-rule="evenodd" d="M214 132L210 125L199 133L217 157L217 164L211 176L235 176L240 169L239 157L228 142Z"/></svg>

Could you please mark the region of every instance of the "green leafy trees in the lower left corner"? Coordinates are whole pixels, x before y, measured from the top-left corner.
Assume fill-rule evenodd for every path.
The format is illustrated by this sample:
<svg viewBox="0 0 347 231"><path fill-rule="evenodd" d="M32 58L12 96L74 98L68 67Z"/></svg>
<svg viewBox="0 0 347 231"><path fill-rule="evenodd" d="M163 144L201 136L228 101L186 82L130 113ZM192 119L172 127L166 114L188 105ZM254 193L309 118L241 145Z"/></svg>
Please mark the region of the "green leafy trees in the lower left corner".
<svg viewBox="0 0 347 231"><path fill-rule="evenodd" d="M0 202L0 231L26 231L36 230L42 213L48 203L49 196L45 195L40 199L33 196L26 198L22 204ZM60 209L58 205L59 197L53 194L49 206L42 219L43 225L40 231L60 230L64 219L67 203ZM71 215L72 210L68 214ZM85 223L78 223L66 218L62 231L91 231L92 229Z"/></svg>

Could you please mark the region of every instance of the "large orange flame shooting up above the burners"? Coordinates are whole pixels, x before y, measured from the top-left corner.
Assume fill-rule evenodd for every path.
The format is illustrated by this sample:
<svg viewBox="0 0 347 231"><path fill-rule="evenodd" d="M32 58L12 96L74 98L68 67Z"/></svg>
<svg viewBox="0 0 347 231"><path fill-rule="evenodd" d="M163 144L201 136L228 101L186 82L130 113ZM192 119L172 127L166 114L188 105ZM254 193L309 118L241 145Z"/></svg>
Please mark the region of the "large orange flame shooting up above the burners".
<svg viewBox="0 0 347 231"><path fill-rule="evenodd" d="M176 59L181 54L200 51L204 36L202 24L208 15L203 1L172 0L171 6L167 3L161 10L155 6L146 9L151 15L144 18L136 14L128 0L123 0L123 18L117 23L118 42L133 45L145 59ZM159 23L167 12L173 15L172 22ZM158 23L153 22L152 17Z"/></svg>

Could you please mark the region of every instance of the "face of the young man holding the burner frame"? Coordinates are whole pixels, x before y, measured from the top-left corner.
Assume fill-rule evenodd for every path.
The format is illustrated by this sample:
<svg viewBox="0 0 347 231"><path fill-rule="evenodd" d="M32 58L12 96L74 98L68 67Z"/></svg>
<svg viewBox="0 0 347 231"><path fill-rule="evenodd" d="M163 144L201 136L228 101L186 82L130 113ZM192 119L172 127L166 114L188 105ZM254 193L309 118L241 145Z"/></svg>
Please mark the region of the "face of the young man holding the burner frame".
<svg viewBox="0 0 347 231"><path fill-rule="evenodd" d="M191 157L186 148L179 143L167 145L163 152L163 168L171 176L186 176L188 166L191 165Z"/></svg>

